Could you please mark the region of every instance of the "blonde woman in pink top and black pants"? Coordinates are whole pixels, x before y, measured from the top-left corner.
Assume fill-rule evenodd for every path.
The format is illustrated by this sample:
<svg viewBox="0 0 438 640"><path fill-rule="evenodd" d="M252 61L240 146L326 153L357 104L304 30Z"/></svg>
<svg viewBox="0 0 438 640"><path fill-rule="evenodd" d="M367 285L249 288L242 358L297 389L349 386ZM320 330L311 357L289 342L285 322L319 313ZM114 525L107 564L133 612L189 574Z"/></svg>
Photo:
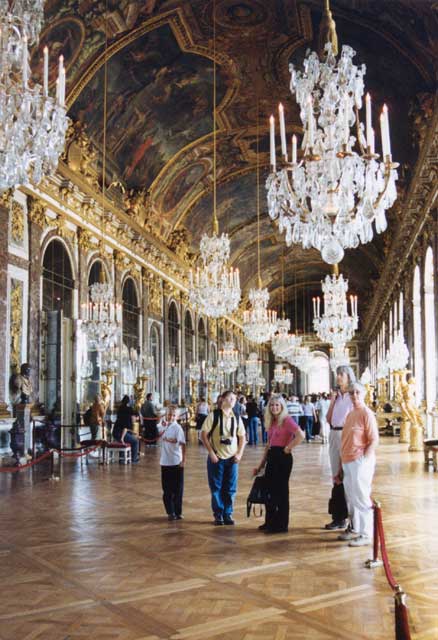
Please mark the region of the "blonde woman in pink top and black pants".
<svg viewBox="0 0 438 640"><path fill-rule="evenodd" d="M289 416L286 401L280 395L273 395L269 400L265 409L265 428L268 443L254 475L266 466L265 478L271 501L266 505L265 524L259 529L265 533L280 533L287 531L289 526L291 451L304 440L304 433Z"/></svg>

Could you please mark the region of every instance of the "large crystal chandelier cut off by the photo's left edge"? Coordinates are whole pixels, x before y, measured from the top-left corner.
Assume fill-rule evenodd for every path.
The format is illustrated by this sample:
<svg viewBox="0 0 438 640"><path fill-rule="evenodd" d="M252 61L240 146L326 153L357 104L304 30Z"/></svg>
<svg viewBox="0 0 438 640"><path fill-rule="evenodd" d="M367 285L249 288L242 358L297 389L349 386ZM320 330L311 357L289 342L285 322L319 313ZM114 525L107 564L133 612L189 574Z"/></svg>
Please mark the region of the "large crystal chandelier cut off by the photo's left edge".
<svg viewBox="0 0 438 640"><path fill-rule="evenodd" d="M52 173L64 149L69 119L65 69L59 58L56 97L49 96L49 52L44 48L43 83L29 83L29 49L38 42L43 0L0 0L0 192L38 184Z"/></svg>

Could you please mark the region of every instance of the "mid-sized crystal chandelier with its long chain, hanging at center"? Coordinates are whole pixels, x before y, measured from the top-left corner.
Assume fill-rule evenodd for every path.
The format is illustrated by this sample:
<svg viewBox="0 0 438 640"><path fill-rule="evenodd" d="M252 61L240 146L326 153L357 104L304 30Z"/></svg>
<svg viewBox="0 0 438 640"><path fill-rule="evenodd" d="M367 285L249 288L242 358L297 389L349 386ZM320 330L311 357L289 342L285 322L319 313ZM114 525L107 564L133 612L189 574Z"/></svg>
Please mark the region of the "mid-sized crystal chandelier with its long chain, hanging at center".
<svg viewBox="0 0 438 640"><path fill-rule="evenodd" d="M195 274L190 271L189 276L189 301L210 318L232 313L240 301L239 270L228 266L230 240L224 233L219 236L216 209L216 21L213 11L213 235L202 236L202 267Z"/></svg>

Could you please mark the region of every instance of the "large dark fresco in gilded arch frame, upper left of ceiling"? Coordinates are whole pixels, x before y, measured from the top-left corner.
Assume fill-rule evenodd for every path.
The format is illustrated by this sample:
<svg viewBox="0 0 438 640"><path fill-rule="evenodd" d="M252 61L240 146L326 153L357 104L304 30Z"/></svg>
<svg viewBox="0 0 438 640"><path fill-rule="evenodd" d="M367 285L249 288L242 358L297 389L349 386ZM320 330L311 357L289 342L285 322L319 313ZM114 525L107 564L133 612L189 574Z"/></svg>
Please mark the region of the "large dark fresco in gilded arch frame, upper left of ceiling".
<svg viewBox="0 0 438 640"><path fill-rule="evenodd" d="M99 144L103 81L102 67L70 111ZM219 73L219 102L224 93ZM107 95L107 151L118 177L130 188L149 188L176 153L211 132L211 61L182 52L168 25L146 33L110 59ZM202 173L198 166L191 179ZM182 185L180 197L184 191Z"/></svg>

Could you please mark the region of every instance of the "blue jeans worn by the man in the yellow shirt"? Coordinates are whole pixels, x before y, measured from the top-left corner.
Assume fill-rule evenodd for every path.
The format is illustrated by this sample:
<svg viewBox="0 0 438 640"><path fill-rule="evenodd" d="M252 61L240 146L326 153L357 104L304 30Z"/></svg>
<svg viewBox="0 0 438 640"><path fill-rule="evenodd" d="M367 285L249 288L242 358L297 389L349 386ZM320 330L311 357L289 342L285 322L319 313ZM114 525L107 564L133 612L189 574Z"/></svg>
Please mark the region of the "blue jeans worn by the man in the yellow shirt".
<svg viewBox="0 0 438 640"><path fill-rule="evenodd" d="M237 491L239 465L233 458L219 459L216 464L207 459L208 486L211 491L211 508L216 519L230 518Z"/></svg>

